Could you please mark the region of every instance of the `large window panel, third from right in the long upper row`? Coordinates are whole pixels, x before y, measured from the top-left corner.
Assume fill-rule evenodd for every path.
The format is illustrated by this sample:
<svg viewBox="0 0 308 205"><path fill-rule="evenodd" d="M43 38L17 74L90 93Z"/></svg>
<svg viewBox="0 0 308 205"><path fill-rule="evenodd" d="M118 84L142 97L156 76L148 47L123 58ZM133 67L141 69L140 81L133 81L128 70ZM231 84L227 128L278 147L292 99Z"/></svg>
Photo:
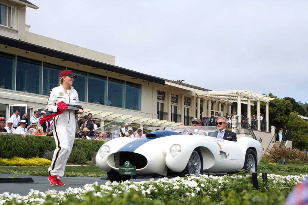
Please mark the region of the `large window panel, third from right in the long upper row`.
<svg viewBox="0 0 308 205"><path fill-rule="evenodd" d="M107 77L89 73L88 102L106 104Z"/></svg>

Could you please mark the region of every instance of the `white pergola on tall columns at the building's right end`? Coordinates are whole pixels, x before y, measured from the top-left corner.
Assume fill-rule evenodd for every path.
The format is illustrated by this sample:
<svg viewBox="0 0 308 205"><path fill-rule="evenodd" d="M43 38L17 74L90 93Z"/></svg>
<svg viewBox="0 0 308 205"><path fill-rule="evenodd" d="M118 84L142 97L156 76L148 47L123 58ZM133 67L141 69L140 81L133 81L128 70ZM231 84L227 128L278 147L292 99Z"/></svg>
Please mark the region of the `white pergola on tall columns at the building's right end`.
<svg viewBox="0 0 308 205"><path fill-rule="evenodd" d="M241 102L247 102L247 117L249 118L249 124L251 120L251 110L250 103L257 101L257 117L260 116L260 101L265 102L265 121L266 132L269 132L269 103L274 98L267 97L265 95L253 93L247 90L226 90L226 91L208 91L207 93L197 93L197 114L199 112L200 116L200 96L205 97L209 100L209 116L210 116L210 106L211 100L218 101L218 111L221 111L221 103L228 104L228 113L231 113L231 104L237 102L237 115L239 116L239 121L241 121ZM199 102L198 102L199 100ZM260 130L260 123L258 123L258 130Z"/></svg>

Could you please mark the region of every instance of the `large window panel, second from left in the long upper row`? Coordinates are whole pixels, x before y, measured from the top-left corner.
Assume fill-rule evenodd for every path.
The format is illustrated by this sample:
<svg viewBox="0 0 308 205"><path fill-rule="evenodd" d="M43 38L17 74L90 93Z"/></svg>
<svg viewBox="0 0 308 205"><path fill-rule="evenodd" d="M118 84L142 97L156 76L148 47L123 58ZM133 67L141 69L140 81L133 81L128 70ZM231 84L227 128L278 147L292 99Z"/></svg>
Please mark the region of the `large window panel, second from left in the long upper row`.
<svg viewBox="0 0 308 205"><path fill-rule="evenodd" d="M42 62L17 57L16 90L41 94Z"/></svg>

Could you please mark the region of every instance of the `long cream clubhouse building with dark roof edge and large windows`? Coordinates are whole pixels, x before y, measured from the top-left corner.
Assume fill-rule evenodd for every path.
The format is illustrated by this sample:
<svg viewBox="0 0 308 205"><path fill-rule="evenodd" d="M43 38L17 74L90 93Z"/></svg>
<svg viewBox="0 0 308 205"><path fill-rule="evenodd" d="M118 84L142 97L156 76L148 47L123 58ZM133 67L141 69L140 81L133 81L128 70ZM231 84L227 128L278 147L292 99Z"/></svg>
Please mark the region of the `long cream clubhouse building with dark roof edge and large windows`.
<svg viewBox="0 0 308 205"><path fill-rule="evenodd" d="M151 131L153 126L190 124L193 117L216 112L237 111L250 118L253 101L266 103L268 121L269 97L247 90L210 91L118 67L114 56L31 33L25 23L27 9L39 7L26 0L0 0L0 116L6 119L16 108L29 118L34 110L46 111L59 74L71 69L79 76L73 86L80 104L91 110L97 124L122 120Z"/></svg>

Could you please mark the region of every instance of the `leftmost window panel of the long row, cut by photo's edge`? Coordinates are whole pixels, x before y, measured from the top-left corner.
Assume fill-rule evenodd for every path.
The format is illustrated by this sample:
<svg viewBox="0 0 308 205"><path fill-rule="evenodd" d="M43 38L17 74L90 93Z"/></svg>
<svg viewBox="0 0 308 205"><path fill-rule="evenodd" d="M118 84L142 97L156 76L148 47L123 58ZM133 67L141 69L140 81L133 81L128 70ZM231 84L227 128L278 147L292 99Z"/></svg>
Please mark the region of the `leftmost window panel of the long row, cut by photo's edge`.
<svg viewBox="0 0 308 205"><path fill-rule="evenodd" d="M15 56L0 52L1 88L15 89Z"/></svg>

